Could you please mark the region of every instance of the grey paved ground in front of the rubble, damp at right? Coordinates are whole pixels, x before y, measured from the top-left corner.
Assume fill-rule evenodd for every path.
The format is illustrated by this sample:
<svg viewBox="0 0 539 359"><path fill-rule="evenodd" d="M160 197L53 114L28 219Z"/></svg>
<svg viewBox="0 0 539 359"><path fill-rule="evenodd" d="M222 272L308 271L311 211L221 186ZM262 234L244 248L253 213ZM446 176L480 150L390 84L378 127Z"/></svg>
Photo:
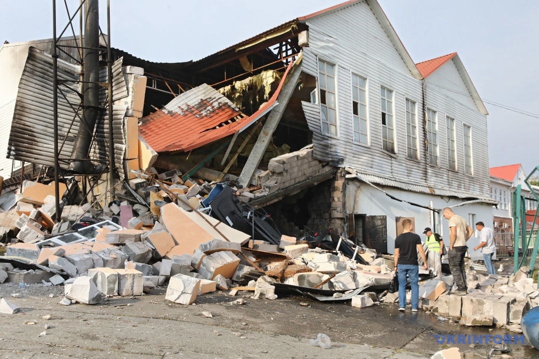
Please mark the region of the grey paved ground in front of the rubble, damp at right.
<svg viewBox="0 0 539 359"><path fill-rule="evenodd" d="M13 292L23 297L11 298ZM56 297L48 297L50 293ZM429 358L440 350L434 333L489 333L424 313L400 313L389 305L357 309L349 302L328 304L301 297L254 300L246 295L247 304L231 306L228 303L238 297L224 292L205 294L196 306L183 306L165 301L161 290L94 306L62 306L58 304L62 293L63 286L31 285L20 290L13 284L0 285L0 296L23 308L18 314L0 314L0 357ZM300 301L310 305L300 306ZM203 311L213 318L205 318ZM47 314L53 319L43 320ZM51 328L39 336L45 325ZM310 346L309 338L317 333L329 335L334 346L325 350ZM461 349L485 357L488 350ZM515 358L535 354L516 349Z"/></svg>

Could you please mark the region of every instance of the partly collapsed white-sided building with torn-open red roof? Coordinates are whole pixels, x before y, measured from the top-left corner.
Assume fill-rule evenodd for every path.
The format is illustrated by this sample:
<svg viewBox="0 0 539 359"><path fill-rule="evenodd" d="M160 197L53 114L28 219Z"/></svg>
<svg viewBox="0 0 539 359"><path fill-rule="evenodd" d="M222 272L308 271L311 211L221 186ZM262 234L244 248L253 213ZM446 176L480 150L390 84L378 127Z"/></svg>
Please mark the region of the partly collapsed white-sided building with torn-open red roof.
<svg viewBox="0 0 539 359"><path fill-rule="evenodd" d="M5 55L9 45L0 59L13 56ZM0 146L8 159L37 167L6 189L50 175L54 165L53 116L44 111L52 101L45 86L52 57L35 44L24 51L15 95L2 98L9 107L0 112L2 125L10 122ZM257 240L279 244L281 234L326 230L384 254L393 252L406 218L418 232L431 227L442 235L444 207L469 223L492 220L488 113L459 55L414 63L376 0L292 19L197 61L160 64L117 49L113 57L114 168L98 180L78 178L88 203L105 207L110 194L132 196L113 188L112 172L116 181L134 182L168 173L159 178L170 191L245 233L248 211L256 212ZM67 178L80 68L68 58L58 64ZM100 74L106 81L106 71ZM100 113L94 130L94 165L107 160L106 118ZM231 199L210 205L230 187L237 190ZM147 187L132 189L141 205L155 199Z"/></svg>

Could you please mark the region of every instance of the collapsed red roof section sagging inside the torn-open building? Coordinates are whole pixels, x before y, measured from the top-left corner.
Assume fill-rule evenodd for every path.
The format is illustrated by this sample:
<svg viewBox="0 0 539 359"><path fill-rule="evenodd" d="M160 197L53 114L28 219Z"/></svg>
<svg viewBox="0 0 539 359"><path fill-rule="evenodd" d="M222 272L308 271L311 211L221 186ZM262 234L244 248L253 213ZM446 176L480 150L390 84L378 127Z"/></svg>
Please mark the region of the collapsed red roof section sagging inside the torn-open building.
<svg viewBox="0 0 539 359"><path fill-rule="evenodd" d="M243 115L230 100L204 84L179 95L163 110L142 118L139 133L156 152L185 152L241 131L277 104L292 64L273 96L251 116ZM244 117L236 119L237 116Z"/></svg>

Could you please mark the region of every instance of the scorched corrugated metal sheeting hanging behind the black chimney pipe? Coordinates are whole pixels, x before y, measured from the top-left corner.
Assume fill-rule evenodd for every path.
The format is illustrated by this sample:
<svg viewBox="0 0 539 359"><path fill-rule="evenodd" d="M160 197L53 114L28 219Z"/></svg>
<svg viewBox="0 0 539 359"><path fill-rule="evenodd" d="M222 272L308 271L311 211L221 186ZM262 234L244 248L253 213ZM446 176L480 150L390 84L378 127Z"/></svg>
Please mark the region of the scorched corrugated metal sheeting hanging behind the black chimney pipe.
<svg viewBox="0 0 539 359"><path fill-rule="evenodd" d="M80 71L78 66L58 60L58 78L68 81L61 86L64 96L58 94L58 132L60 159L70 159L73 143L79 129L79 118L75 114L80 97L75 91ZM115 75L123 79L121 59L116 61ZM104 81L105 79L100 79ZM125 86L124 86L125 87ZM101 89L105 92L105 89ZM114 93L122 93L121 86L114 88ZM8 157L31 163L54 166L54 128L52 112L52 57L36 48L30 47L26 65L19 82L19 90L8 144ZM100 96L103 98L103 96ZM71 102L72 105L68 103ZM120 97L119 97L120 98ZM125 156L125 136L123 117L126 105L115 105L113 115L115 157L118 171L123 175L123 158ZM80 115L80 111L79 111ZM107 157L108 118L101 114L95 129L97 142L93 143L90 158L94 161L106 160ZM67 161L60 161L60 167L67 168Z"/></svg>

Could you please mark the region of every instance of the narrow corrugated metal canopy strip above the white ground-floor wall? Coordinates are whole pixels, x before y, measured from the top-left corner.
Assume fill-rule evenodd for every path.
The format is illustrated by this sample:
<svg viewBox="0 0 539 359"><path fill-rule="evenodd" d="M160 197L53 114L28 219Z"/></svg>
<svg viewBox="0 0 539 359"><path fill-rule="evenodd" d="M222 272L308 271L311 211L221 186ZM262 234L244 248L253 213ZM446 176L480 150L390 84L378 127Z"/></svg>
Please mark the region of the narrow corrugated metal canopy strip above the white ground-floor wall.
<svg viewBox="0 0 539 359"><path fill-rule="evenodd" d="M399 181L392 178L385 178L385 177L381 177L381 176L369 174L369 173L356 172L355 174L358 179L364 182L378 184L382 186L396 187L400 189L405 189L406 191L433 194L437 196L456 197L456 198L462 198L462 199L468 199L468 198L478 199L478 200L481 200L481 202L492 203L493 205L497 205L498 203L492 198L482 195L482 194L478 194L478 193L457 191L455 189L434 187L434 186L430 186L426 184L425 185L414 184L413 182L410 182L410 181L404 182L404 181Z"/></svg>

